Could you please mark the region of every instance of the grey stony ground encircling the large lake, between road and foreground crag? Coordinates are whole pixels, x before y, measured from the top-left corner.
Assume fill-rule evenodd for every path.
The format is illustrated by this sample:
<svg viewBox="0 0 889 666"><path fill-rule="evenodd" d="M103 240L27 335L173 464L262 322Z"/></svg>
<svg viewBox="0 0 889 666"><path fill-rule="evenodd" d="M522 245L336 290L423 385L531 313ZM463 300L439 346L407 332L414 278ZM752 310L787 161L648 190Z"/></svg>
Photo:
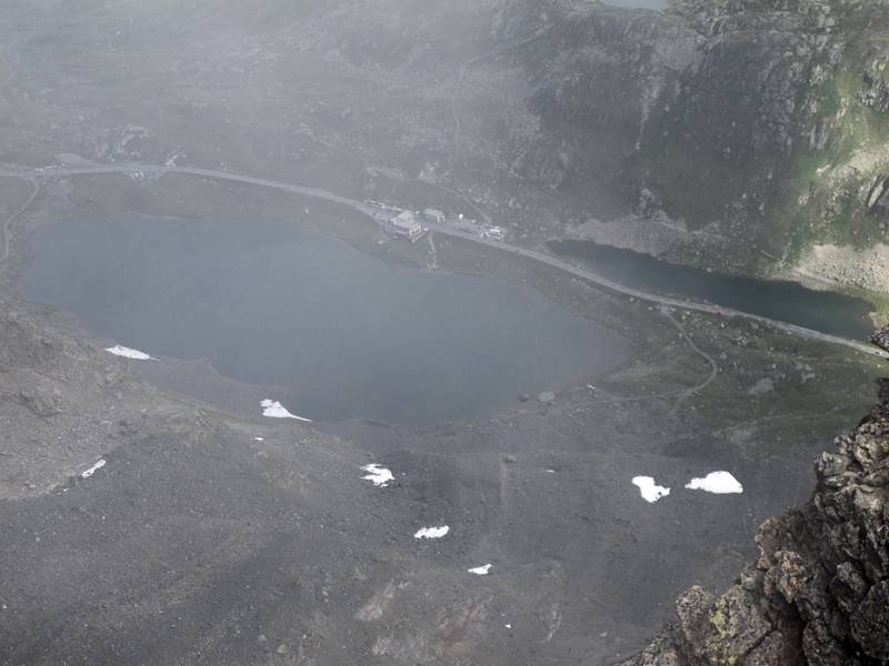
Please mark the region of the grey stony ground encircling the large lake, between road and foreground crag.
<svg viewBox="0 0 889 666"><path fill-rule="evenodd" d="M613 663L672 616L679 592L732 579L756 525L805 500L810 461L870 400L876 369L851 352L675 313L720 371L677 406L710 369L667 316L457 242L436 243L438 270L532 284L621 332L631 362L476 422L281 424L259 416L261 387L201 363L111 356L16 297L34 225L180 200L210 215L292 205L91 179L48 185L12 230L0 663ZM328 233L427 265L428 248L380 246L372 226L332 219ZM393 472L390 487L360 478L370 462ZM682 488L717 468L745 493ZM646 503L639 474L671 495ZM440 524L440 541L412 536ZM488 563L488 576L467 571Z"/></svg>

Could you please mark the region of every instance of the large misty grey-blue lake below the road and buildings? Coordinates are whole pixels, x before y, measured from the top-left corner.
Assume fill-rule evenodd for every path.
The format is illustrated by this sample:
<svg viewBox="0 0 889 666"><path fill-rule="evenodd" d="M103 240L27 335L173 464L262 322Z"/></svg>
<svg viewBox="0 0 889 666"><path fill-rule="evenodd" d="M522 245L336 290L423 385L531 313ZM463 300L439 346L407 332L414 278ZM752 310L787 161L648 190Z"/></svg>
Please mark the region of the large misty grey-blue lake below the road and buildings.
<svg viewBox="0 0 889 666"><path fill-rule="evenodd" d="M626 357L531 289L392 268L293 222L69 222L32 249L27 297L116 344L289 386L269 397L313 420L478 416Z"/></svg>

